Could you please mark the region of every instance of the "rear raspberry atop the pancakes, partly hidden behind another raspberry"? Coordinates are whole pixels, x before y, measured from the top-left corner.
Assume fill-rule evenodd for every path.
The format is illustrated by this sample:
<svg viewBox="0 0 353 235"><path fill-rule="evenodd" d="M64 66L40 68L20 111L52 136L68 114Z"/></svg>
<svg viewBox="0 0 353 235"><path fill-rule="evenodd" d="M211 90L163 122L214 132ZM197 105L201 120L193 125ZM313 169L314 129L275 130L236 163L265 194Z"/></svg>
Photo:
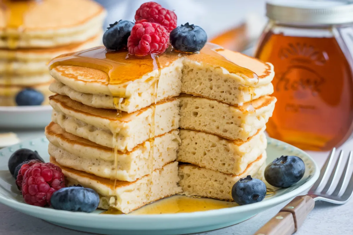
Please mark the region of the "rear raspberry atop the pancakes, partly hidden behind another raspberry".
<svg viewBox="0 0 353 235"><path fill-rule="evenodd" d="M168 32L177 27L177 15L156 2L145 2L137 9L135 14L136 24L151 22L163 25Z"/></svg>

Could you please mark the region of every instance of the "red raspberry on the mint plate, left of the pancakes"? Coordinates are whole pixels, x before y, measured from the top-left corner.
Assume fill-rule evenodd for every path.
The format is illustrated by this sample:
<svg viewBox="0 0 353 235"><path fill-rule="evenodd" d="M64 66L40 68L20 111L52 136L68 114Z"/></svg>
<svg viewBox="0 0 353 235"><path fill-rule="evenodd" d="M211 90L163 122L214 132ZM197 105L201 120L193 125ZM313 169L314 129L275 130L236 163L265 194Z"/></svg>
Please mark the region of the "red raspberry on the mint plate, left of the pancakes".
<svg viewBox="0 0 353 235"><path fill-rule="evenodd" d="M52 194L65 187L61 168L52 163L35 163L21 168L25 170L22 182L22 195L27 204L50 206Z"/></svg>

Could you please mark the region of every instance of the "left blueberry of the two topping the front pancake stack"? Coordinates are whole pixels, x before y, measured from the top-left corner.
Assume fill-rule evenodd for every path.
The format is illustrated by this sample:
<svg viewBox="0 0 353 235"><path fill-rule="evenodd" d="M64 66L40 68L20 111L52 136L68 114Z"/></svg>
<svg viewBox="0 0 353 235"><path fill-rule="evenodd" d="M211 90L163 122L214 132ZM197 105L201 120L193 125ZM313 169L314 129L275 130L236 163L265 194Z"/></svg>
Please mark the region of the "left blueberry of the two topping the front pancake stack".
<svg viewBox="0 0 353 235"><path fill-rule="evenodd" d="M127 45L127 38L130 36L132 27L135 24L127 20L119 20L110 24L103 35L103 44L107 50L119 50Z"/></svg>

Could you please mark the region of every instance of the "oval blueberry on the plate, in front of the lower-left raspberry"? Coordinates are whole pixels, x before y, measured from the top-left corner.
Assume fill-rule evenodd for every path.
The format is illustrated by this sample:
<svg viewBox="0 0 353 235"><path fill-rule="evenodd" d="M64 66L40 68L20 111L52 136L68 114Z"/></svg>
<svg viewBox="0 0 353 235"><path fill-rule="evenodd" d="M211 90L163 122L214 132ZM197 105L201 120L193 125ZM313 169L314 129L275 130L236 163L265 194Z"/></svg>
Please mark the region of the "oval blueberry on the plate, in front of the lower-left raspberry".
<svg viewBox="0 0 353 235"><path fill-rule="evenodd" d="M92 212L97 209L99 195L90 188L80 185L61 188L50 198L50 204L56 210Z"/></svg>

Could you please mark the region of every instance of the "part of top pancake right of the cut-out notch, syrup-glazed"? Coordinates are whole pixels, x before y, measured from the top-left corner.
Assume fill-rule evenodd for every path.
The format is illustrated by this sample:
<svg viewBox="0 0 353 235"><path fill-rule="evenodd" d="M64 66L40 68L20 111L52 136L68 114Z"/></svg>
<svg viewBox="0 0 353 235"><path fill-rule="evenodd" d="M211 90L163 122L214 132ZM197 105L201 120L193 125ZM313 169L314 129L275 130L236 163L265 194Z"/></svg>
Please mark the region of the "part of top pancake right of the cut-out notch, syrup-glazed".
<svg viewBox="0 0 353 235"><path fill-rule="evenodd" d="M182 93L231 105L273 93L272 64L222 48L200 54L184 60Z"/></svg>

